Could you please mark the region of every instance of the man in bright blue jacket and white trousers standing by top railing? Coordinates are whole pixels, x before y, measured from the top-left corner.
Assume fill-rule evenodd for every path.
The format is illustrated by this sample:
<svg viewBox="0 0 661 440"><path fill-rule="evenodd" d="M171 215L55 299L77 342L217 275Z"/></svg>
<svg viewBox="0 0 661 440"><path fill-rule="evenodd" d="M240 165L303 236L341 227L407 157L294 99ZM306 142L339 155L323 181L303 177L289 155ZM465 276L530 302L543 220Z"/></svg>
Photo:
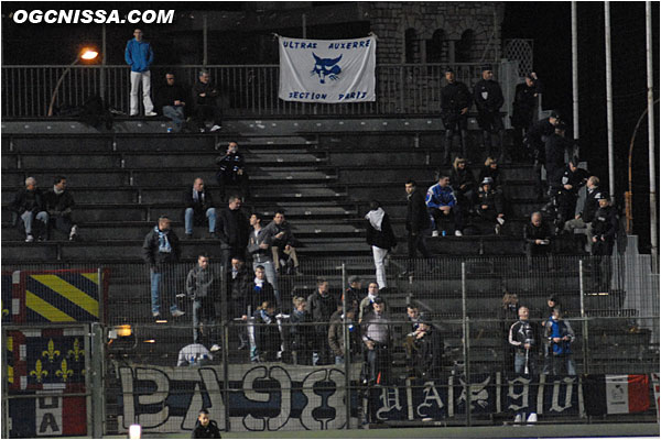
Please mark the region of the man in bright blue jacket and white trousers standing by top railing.
<svg viewBox="0 0 661 440"><path fill-rule="evenodd" d="M133 31L133 40L127 43L124 59L131 66L131 110L130 116L138 116L138 89L142 82L142 103L144 105L144 116L155 117L154 105L152 103L151 92L151 72L149 66L154 62L154 53L151 45L142 40L142 31Z"/></svg>

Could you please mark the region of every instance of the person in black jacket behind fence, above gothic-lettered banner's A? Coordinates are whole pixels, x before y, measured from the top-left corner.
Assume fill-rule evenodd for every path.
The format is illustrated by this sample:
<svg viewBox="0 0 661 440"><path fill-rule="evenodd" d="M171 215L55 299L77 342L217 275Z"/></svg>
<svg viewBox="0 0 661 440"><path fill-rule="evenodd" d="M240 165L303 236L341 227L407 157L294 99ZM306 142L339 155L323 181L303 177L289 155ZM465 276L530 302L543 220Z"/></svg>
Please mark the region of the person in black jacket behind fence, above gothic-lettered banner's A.
<svg viewBox="0 0 661 440"><path fill-rule="evenodd" d="M426 380L440 378L443 372L443 338L425 314L420 315L420 326L413 338L418 376Z"/></svg>

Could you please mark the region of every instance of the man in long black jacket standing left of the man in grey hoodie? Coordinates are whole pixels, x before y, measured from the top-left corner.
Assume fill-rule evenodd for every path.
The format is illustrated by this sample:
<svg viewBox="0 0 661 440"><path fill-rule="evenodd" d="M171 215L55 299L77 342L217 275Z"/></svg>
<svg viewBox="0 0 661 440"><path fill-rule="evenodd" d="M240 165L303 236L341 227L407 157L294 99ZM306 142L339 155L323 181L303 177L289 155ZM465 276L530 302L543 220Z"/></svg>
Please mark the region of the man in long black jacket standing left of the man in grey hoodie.
<svg viewBox="0 0 661 440"><path fill-rule="evenodd" d="M216 233L220 240L223 267L228 271L231 256L245 257L250 235L250 223L241 211L239 196L229 196L228 205L220 210L217 221Z"/></svg>

